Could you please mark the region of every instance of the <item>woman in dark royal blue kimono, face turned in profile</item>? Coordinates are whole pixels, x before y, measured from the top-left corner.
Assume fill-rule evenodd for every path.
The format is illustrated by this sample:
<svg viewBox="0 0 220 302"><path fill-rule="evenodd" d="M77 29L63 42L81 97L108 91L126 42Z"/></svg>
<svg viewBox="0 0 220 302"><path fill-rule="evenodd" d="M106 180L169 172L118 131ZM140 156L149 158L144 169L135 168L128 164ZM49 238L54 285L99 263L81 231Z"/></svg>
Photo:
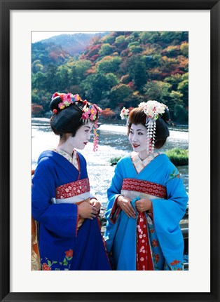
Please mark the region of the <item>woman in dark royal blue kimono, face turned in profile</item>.
<svg viewBox="0 0 220 302"><path fill-rule="evenodd" d="M41 153L32 179L32 217L38 224L39 248L35 245L32 256L35 253L37 261L39 252L41 264L37 268L32 257L32 268L111 270L97 218L101 204L90 194L86 161L76 151L85 148L93 126L97 150L101 109L79 95L59 92L53 95L50 109L50 127L60 140L55 149Z"/></svg>

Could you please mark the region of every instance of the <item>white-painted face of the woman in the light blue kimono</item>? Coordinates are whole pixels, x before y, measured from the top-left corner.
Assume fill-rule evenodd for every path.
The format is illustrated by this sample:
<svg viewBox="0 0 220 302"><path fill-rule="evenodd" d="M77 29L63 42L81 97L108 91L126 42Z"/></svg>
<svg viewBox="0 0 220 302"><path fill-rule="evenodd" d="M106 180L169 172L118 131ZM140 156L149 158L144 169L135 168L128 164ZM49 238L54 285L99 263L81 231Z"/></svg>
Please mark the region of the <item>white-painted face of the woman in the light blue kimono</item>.
<svg viewBox="0 0 220 302"><path fill-rule="evenodd" d="M148 144L148 139L146 137L146 127L142 124L132 124L129 133L129 141L135 152L138 153L139 158L144 160L148 155L146 147Z"/></svg>

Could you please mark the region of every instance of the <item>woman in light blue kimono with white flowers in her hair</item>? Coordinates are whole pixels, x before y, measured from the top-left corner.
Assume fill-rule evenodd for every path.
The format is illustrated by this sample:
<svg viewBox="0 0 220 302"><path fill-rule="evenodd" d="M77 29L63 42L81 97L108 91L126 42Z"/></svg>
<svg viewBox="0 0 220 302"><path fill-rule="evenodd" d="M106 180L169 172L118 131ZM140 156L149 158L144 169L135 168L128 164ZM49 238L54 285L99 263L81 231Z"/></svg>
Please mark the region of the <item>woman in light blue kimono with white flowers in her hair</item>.
<svg viewBox="0 0 220 302"><path fill-rule="evenodd" d="M183 270L179 221L188 195L177 168L160 149L170 133L169 111L156 101L128 111L133 151L116 165L107 191L106 249L114 270Z"/></svg>

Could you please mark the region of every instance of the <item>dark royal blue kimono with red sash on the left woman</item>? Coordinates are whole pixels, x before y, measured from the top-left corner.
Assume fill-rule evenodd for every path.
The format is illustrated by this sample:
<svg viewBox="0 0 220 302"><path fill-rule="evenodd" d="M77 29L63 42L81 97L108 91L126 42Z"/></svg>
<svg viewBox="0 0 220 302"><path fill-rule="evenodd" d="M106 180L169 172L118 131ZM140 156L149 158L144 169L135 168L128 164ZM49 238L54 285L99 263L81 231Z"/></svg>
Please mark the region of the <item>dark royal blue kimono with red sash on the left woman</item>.
<svg viewBox="0 0 220 302"><path fill-rule="evenodd" d="M111 270L99 220L78 217L90 200L86 161L79 169L55 151L44 151L32 180L32 217L38 221L41 270Z"/></svg>

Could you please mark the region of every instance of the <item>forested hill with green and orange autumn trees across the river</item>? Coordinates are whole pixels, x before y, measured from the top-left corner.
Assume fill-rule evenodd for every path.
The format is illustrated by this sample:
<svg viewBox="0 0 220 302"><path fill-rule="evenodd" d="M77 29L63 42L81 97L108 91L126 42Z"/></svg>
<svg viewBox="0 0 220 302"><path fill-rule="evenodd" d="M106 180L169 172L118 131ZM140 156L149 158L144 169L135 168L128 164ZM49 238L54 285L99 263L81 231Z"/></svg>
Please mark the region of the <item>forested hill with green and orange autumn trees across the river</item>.
<svg viewBox="0 0 220 302"><path fill-rule="evenodd" d="M33 48L33 114L48 111L51 95L59 91L97 103L104 118L156 99L167 104L172 120L188 122L188 32L111 32L93 38L78 56L63 44L60 53L49 45L48 53L56 49L63 62L44 66L42 53Z"/></svg>

